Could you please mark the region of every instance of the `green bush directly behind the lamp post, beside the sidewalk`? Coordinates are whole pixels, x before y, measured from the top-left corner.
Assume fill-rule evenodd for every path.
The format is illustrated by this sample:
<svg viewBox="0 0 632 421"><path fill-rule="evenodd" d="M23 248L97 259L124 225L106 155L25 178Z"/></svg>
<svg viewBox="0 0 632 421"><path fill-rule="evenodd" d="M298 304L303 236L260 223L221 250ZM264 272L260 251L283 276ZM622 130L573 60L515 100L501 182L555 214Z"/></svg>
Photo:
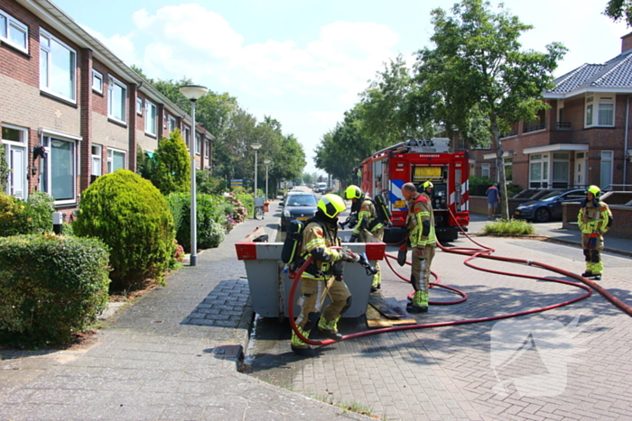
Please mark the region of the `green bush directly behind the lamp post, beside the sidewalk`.
<svg viewBox="0 0 632 421"><path fill-rule="evenodd" d="M191 215L191 198L188 195L182 195L182 198L183 214ZM223 205L222 197L196 196L197 240L200 249L217 247L219 243L224 241L224 227L217 222L226 217L222 213ZM191 252L191 217L182 218L176 239L186 252Z"/></svg>

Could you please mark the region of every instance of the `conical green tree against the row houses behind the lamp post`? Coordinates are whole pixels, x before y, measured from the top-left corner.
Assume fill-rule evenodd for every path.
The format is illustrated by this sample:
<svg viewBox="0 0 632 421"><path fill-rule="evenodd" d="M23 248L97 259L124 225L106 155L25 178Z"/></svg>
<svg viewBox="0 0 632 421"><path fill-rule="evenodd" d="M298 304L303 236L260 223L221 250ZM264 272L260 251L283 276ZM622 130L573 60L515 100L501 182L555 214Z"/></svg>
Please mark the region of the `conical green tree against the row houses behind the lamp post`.
<svg viewBox="0 0 632 421"><path fill-rule="evenodd" d="M153 153L155 167L151 175L153 185L164 196L174 192L186 192L191 186L191 162L187 145L180 130L163 138Z"/></svg>

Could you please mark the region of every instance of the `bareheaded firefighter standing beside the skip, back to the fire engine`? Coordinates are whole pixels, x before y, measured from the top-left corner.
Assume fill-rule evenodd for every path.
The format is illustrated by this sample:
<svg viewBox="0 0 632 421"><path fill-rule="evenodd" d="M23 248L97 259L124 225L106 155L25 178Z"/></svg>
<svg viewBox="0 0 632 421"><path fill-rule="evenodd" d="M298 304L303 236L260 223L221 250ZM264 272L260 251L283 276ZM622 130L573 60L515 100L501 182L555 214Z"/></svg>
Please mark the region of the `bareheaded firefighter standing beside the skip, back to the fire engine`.
<svg viewBox="0 0 632 421"><path fill-rule="evenodd" d="M424 191L427 193L425 187ZM413 183L405 183L402 186L402 195L408 201L406 222L409 230L408 238L414 251L411 269L414 295L406 310L410 313L425 313L428 311L430 266L437 246L434 234L434 213L427 194L417 193Z"/></svg>

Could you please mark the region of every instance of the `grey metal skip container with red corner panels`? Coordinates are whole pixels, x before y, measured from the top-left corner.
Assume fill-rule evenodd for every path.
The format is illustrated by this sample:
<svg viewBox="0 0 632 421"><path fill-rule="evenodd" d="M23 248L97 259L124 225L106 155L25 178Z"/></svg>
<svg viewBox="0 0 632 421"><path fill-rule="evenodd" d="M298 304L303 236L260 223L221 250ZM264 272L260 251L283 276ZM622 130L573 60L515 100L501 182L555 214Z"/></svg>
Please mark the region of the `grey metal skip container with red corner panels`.
<svg viewBox="0 0 632 421"><path fill-rule="evenodd" d="M246 237L247 239L247 237ZM385 243L343 243L352 252L366 253L371 265L384 260ZM235 243L237 259L244 261L246 276L253 309L256 314L264 317L285 317L290 300L294 302L294 315L301 312L301 307L295 304L301 285L296 289L294 298L290 297L293 279L290 273L283 271L281 251L283 243L255 243L251 241ZM368 296L371 293L373 275L358 263L345 264L345 283L353 297L349 310L343 317L359 317L367 312ZM330 298L326 298L325 305Z"/></svg>

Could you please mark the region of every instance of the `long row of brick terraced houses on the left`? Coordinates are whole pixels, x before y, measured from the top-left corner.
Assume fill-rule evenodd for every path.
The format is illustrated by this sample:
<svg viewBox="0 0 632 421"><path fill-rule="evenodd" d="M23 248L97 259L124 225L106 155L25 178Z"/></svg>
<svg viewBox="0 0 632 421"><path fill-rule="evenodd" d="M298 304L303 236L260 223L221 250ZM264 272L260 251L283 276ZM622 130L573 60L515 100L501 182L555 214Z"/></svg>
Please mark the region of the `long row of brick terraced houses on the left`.
<svg viewBox="0 0 632 421"><path fill-rule="evenodd" d="M67 215L95 178L134 171L137 151L173 130L191 144L191 116L48 0L0 0L0 93L6 192L45 191ZM212 136L195 133L209 169Z"/></svg>

